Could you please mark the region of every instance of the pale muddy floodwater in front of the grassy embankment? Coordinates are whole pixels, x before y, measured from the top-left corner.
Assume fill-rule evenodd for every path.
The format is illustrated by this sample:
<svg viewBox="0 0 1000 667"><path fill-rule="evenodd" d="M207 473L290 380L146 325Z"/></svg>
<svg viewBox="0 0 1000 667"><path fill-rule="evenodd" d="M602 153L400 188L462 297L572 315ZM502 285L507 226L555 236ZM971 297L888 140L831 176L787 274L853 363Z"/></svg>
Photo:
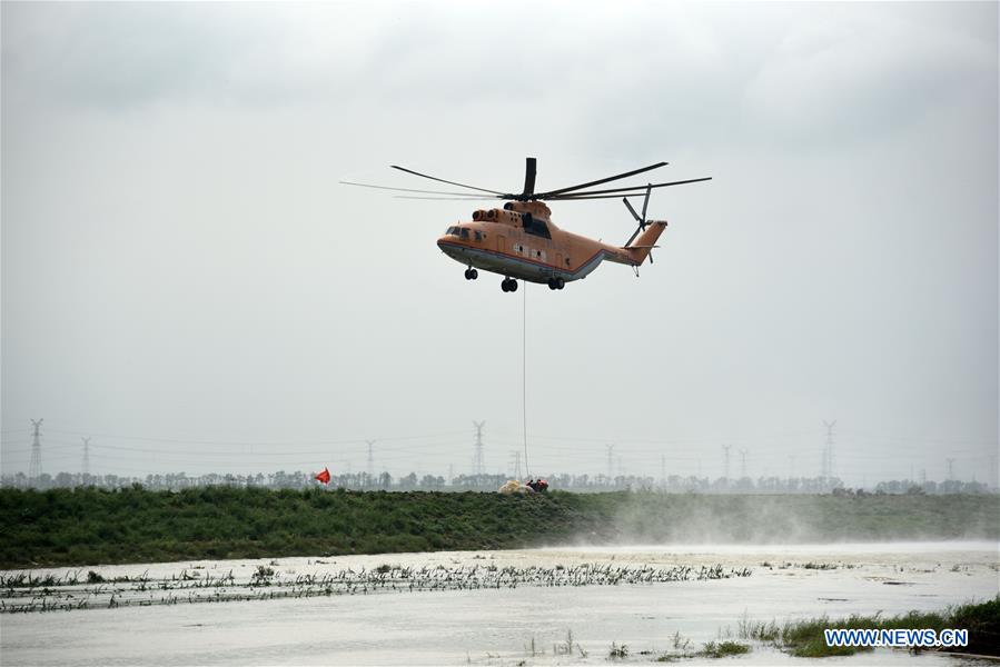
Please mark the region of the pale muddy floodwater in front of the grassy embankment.
<svg viewBox="0 0 1000 667"><path fill-rule="evenodd" d="M0 663L606 665L613 645L625 645L616 663L652 664L679 645L693 653L741 640L746 620L990 599L1000 591L998 549L574 547L4 571ZM752 646L741 663L815 664L741 641ZM990 664L888 649L835 661Z"/></svg>

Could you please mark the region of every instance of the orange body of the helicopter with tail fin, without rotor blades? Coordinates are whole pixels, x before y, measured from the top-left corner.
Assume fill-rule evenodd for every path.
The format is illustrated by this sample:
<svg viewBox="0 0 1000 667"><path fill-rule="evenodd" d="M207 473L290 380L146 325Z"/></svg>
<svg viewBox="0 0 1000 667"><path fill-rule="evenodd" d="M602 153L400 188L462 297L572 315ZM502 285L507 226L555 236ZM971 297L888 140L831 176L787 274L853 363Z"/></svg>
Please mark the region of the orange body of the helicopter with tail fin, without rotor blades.
<svg viewBox="0 0 1000 667"><path fill-rule="evenodd" d="M651 221L638 247L615 247L560 229L544 202L511 201L503 209L475 211L472 221L449 227L437 246L469 269L552 286L586 278L604 260L641 265L665 227Z"/></svg>

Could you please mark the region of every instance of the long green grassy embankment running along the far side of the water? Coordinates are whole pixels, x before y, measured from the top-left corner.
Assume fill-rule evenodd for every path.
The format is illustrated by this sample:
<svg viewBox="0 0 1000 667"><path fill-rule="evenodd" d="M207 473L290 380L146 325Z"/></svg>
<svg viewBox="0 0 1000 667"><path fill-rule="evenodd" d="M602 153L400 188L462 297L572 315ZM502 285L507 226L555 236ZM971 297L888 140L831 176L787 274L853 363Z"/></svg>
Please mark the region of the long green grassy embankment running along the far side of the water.
<svg viewBox="0 0 1000 667"><path fill-rule="evenodd" d="M575 540L997 539L998 527L998 496L0 489L0 568L503 549Z"/></svg>

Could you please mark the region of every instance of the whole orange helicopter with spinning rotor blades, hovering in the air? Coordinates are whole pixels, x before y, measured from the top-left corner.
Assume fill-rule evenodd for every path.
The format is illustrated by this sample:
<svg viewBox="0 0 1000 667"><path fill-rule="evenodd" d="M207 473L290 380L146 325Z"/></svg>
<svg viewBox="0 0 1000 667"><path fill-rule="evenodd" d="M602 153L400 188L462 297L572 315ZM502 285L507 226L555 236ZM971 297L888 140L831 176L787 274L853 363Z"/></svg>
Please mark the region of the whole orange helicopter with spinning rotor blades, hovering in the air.
<svg viewBox="0 0 1000 667"><path fill-rule="evenodd" d="M636 276L638 267L650 258L653 262L651 250L657 248L656 240L666 228L664 220L646 220L646 207L650 203L650 193L655 188L667 186L681 186L712 180L709 178L695 178L665 183L647 183L645 186L620 187L603 190L588 190L610 181L628 178L665 167L666 162L657 162L642 169L618 173L598 180L570 186L547 192L535 192L535 158L526 159L524 175L524 190L519 193L502 192L476 186L467 186L456 181L445 180L435 176L420 173L405 167L393 165L393 169L427 178L451 186L475 190L475 192L448 192L438 190L414 190L409 188L389 188L386 186L373 186L352 181L340 181L347 186L360 186L363 188L378 188L380 190L395 190L419 195L439 195L448 197L416 197L414 195L402 196L404 199L464 199L506 200L503 208L479 209L473 212L469 222L459 222L448 227L443 237L437 239L437 247L455 261L466 266L465 279L475 280L479 277L477 269L492 271L504 277L501 289L517 291L517 279L531 282L544 282L548 289L563 289L567 282L586 278L602 261L634 267ZM645 191L643 193L643 191ZM484 195L485 193L485 195ZM636 212L628 197L643 193L642 212ZM545 201L578 201L583 199L611 199L622 197L628 212L635 218L638 226L624 246L610 246L601 241L565 231L552 221L552 211Z"/></svg>

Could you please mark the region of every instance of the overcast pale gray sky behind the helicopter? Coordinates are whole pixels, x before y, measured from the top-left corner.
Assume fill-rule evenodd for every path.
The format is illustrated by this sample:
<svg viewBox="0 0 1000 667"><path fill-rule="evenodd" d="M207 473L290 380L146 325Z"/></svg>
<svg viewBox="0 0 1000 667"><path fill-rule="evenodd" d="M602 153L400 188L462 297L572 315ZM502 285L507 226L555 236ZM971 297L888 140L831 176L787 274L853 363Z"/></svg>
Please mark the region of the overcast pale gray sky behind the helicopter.
<svg viewBox="0 0 1000 667"><path fill-rule="evenodd" d="M990 476L998 6L2 8L2 471ZM481 205L637 168L636 280L463 279ZM616 200L558 202L624 242ZM993 468L996 470L996 467ZM996 472L992 472L996 476ZM996 477L993 477L996 480Z"/></svg>

